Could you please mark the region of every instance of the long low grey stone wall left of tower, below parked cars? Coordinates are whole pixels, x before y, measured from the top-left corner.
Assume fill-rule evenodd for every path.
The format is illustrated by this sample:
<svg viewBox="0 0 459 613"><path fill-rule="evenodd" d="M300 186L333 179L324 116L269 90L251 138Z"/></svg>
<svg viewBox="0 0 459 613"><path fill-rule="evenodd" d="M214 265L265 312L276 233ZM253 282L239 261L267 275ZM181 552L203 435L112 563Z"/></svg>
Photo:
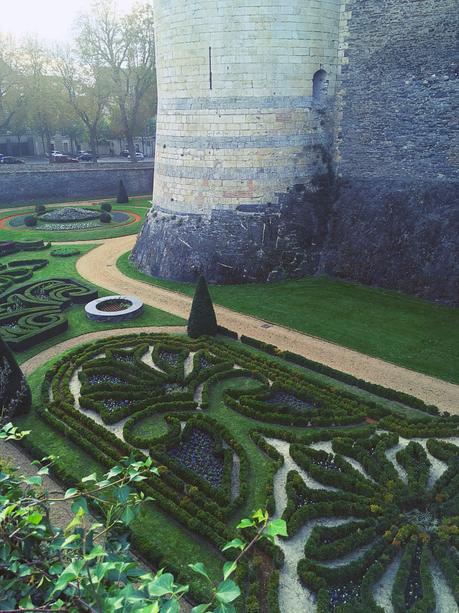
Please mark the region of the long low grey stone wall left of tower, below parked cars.
<svg viewBox="0 0 459 613"><path fill-rule="evenodd" d="M0 208L29 202L110 198L118 193L120 179L130 196L150 194L153 187L153 165L126 162L1 168Z"/></svg>

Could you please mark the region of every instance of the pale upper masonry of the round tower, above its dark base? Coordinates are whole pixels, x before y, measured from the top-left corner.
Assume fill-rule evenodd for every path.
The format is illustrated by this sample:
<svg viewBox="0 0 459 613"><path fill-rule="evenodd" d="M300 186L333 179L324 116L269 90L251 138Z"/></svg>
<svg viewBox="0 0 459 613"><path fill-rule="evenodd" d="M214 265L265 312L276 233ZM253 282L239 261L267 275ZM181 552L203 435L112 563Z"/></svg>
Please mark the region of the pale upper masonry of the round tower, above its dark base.
<svg viewBox="0 0 459 613"><path fill-rule="evenodd" d="M339 14L339 0L156 2L155 204L210 215L312 176L313 75L332 95Z"/></svg>

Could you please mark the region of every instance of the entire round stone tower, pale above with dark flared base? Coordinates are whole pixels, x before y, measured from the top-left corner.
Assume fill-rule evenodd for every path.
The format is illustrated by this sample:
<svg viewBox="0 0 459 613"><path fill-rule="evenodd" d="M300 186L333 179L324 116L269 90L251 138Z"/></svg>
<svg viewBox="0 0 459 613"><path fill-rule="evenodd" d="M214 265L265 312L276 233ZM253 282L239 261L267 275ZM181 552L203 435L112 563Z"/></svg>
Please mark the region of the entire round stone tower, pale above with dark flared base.
<svg viewBox="0 0 459 613"><path fill-rule="evenodd" d="M133 252L152 275L313 272L325 216L341 0L155 0L153 206Z"/></svg>

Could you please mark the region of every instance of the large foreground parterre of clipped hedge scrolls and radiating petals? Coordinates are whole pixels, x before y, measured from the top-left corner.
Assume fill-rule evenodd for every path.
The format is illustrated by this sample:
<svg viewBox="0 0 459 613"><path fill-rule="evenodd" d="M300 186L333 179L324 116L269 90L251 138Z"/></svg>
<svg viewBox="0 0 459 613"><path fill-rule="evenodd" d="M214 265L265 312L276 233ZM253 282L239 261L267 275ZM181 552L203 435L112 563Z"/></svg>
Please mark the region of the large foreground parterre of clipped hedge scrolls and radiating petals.
<svg viewBox="0 0 459 613"><path fill-rule="evenodd" d="M396 613L427 612L443 591L441 610L459 596L459 421L407 417L374 398L236 343L144 334L59 361L40 415L106 467L150 453L161 478L139 487L209 547L235 538L255 504L282 515L289 537L258 548L241 610L278 611L279 595L285 612L367 613L390 601ZM294 585L304 602L289 600Z"/></svg>

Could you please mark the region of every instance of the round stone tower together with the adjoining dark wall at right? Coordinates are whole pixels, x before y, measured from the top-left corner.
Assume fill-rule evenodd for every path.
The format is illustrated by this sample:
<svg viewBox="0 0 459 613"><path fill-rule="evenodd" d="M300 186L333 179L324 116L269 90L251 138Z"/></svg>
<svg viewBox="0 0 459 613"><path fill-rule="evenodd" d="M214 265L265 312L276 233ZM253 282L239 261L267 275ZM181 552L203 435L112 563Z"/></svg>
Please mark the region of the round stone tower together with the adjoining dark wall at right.
<svg viewBox="0 0 459 613"><path fill-rule="evenodd" d="M155 14L142 270L328 272L457 300L455 0L155 0Z"/></svg>

